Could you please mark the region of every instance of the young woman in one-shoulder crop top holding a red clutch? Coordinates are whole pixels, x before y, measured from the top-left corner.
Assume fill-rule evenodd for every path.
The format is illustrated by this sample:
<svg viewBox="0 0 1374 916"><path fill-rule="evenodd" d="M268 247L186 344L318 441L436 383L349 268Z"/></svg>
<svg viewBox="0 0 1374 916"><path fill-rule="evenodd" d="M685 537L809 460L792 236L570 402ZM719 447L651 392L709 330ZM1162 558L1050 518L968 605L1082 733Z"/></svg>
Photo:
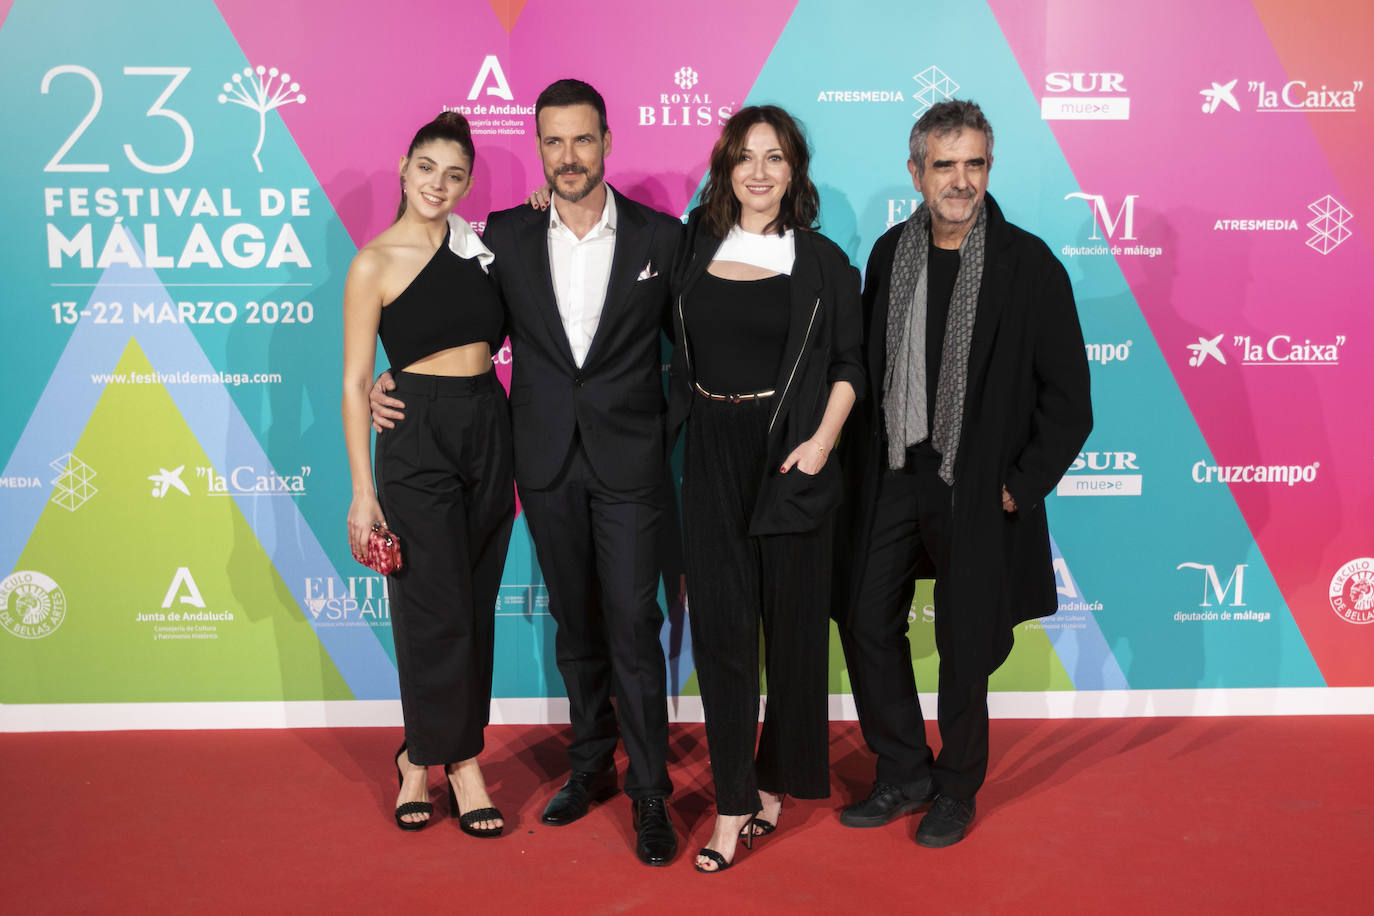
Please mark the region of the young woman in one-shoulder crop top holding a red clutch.
<svg viewBox="0 0 1374 916"><path fill-rule="evenodd" d="M431 817L427 775L444 766L464 832L504 821L477 755L492 696L496 595L515 515L506 393L492 371L504 319L486 277L492 255L453 206L467 196L467 121L441 114L401 159L396 222L353 258L344 288L344 438L353 477L348 536L367 553L374 523L401 541L387 578L405 742L394 765L396 824ZM368 449L367 393L376 338L407 397L404 423Z"/></svg>

